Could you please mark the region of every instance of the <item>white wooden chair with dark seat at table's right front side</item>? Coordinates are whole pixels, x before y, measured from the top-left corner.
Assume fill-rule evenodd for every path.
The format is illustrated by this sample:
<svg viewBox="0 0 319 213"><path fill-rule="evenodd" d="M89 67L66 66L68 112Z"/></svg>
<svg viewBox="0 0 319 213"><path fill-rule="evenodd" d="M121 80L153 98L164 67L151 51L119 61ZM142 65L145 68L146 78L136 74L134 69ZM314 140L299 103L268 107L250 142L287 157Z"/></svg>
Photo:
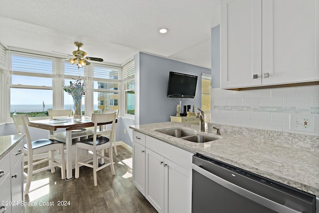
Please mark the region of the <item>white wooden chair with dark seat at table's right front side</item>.
<svg viewBox="0 0 319 213"><path fill-rule="evenodd" d="M112 174L115 175L114 171L114 163L113 163L113 149L112 144L114 143L114 134L113 131L115 129L115 120L116 120L116 112L112 113L93 113L92 114L92 122L94 123L94 134L93 138L89 138L87 140L81 140L76 143L76 157L75 157L75 178L79 178L79 169L80 166L87 166L93 168L93 179L94 186L97 186L97 176L96 173L101 169L104 169L107 166L111 167ZM103 136L103 133L108 132L108 125L102 125L101 128L98 128L98 125L101 123L112 122L110 137ZM101 135L100 135L101 134ZM100 135L100 136L98 136ZM103 150L110 148L109 157L104 156ZM79 151L81 149L85 149L88 151L92 151L93 155L90 158L80 161ZM99 167L98 160L104 159L109 161L104 165Z"/></svg>

